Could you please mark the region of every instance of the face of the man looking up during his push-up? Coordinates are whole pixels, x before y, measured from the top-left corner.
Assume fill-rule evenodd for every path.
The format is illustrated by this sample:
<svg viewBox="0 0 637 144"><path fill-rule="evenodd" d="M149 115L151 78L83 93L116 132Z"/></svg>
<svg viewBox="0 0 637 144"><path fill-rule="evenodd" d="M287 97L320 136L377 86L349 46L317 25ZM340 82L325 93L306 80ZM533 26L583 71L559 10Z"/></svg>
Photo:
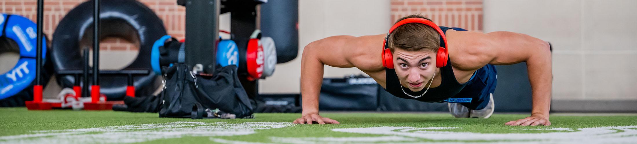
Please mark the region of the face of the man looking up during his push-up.
<svg viewBox="0 0 637 144"><path fill-rule="evenodd" d="M401 85L412 91L421 91L436 72L436 53L433 51L405 51L396 48L392 54L394 70Z"/></svg>

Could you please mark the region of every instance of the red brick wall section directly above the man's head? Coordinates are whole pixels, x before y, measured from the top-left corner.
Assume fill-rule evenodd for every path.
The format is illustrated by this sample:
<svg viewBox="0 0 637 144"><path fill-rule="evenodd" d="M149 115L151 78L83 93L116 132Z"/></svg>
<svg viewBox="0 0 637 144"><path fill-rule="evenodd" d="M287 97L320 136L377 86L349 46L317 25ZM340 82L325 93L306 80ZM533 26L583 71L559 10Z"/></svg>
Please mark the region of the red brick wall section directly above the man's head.
<svg viewBox="0 0 637 144"><path fill-rule="evenodd" d="M421 13L436 24L482 31L482 0L391 0L392 23Z"/></svg>

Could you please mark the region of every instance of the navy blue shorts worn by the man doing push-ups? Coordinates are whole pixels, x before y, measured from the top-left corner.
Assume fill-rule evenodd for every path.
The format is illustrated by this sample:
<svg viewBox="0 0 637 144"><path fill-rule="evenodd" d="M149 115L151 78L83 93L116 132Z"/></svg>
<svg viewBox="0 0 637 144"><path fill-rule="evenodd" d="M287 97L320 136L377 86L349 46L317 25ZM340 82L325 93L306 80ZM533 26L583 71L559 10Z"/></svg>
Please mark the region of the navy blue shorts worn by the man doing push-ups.
<svg viewBox="0 0 637 144"><path fill-rule="evenodd" d="M496 91L497 70L494 65L485 65L476 70L464 88L455 96L445 100L461 103L471 110L481 110L489 103L489 95Z"/></svg>

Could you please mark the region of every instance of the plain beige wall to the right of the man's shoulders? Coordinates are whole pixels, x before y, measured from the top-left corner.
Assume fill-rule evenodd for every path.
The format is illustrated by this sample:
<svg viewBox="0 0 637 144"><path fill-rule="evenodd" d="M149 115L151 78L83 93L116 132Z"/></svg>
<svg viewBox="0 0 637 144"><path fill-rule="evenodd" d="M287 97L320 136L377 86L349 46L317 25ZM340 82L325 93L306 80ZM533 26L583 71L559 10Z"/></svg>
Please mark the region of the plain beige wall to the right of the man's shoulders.
<svg viewBox="0 0 637 144"><path fill-rule="evenodd" d="M553 44L553 100L637 100L635 7L633 0L485 0L483 25Z"/></svg>

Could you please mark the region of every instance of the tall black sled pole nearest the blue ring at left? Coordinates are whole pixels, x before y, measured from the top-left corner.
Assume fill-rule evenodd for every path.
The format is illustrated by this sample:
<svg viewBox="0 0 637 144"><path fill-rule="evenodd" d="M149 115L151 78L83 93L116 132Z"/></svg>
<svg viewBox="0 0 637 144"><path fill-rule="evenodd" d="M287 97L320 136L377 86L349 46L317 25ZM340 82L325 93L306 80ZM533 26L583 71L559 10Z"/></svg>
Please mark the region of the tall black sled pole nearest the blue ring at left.
<svg viewBox="0 0 637 144"><path fill-rule="evenodd" d="M43 17L43 8L44 7L44 0L38 0L38 42L36 43L36 58L38 58L38 60L36 60L36 85L42 85L41 83L41 68L42 68L42 41L43 41L43 37L42 34L44 32L42 32L42 17Z"/></svg>

